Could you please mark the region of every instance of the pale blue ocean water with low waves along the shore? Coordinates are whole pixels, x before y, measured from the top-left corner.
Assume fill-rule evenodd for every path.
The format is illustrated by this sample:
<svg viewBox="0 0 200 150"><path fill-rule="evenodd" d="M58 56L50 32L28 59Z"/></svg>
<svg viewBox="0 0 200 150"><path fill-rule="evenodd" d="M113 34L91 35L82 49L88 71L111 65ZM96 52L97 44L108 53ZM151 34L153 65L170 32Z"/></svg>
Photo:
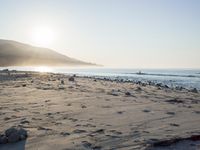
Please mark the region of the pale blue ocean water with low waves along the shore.
<svg viewBox="0 0 200 150"><path fill-rule="evenodd" d="M10 70L41 71L78 76L108 78L111 80L154 82L172 88L184 87L200 90L200 69L113 69L113 68L64 68L64 67L7 67ZM0 67L0 70L5 69Z"/></svg>

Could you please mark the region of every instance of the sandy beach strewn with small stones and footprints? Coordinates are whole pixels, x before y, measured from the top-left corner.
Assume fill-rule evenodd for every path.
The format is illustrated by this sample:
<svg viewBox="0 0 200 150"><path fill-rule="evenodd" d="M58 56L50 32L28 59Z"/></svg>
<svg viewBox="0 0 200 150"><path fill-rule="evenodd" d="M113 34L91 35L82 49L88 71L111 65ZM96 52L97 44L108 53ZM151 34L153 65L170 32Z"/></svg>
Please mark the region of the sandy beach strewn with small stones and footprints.
<svg viewBox="0 0 200 150"><path fill-rule="evenodd" d="M197 150L200 93L1 71L0 124L1 133L12 126L28 131L26 140L0 144L1 150Z"/></svg>

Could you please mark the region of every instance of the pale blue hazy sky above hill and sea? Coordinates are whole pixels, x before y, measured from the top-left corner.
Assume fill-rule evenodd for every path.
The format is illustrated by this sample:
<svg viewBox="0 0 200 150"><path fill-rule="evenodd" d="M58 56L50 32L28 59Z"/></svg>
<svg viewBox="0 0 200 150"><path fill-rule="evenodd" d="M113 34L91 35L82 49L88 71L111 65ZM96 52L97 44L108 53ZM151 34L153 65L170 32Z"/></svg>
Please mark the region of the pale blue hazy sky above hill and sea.
<svg viewBox="0 0 200 150"><path fill-rule="evenodd" d="M200 0L0 0L0 39L115 68L200 68Z"/></svg>

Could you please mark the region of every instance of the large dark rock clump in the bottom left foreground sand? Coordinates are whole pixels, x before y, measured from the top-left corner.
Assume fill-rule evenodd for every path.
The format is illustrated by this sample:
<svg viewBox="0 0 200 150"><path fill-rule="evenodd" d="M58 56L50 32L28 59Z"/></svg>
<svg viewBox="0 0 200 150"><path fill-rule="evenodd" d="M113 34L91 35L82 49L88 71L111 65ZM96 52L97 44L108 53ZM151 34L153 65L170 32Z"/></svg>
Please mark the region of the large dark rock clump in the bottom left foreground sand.
<svg viewBox="0 0 200 150"><path fill-rule="evenodd" d="M28 133L23 128L11 127L0 135L0 144L15 143L21 140L25 140L28 137Z"/></svg>

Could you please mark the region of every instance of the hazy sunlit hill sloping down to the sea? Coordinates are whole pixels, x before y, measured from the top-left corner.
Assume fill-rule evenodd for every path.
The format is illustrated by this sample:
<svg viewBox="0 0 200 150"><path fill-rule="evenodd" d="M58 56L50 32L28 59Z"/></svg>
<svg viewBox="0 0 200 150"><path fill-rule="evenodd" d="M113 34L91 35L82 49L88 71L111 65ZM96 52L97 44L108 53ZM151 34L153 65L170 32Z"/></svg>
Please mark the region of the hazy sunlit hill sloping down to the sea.
<svg viewBox="0 0 200 150"><path fill-rule="evenodd" d="M54 50L34 47L28 44L0 40L0 66L90 66L83 62L59 54Z"/></svg>

